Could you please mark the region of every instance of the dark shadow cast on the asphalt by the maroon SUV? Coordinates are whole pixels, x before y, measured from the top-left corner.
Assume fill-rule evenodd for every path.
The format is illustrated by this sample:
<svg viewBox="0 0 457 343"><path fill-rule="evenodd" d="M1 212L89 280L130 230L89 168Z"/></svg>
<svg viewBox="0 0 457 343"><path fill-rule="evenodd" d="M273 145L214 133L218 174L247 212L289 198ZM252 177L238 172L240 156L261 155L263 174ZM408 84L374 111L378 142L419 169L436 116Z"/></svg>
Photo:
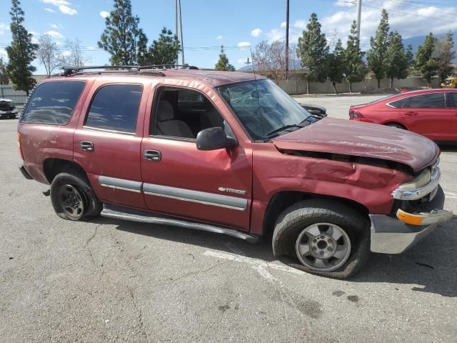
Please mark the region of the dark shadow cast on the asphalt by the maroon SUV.
<svg viewBox="0 0 457 343"><path fill-rule="evenodd" d="M99 224L114 224L116 229L156 239L193 244L265 262L275 261L271 252L271 237L258 244L249 244L223 234L200 232L165 225L126 222L108 218L94 220ZM457 216L441 225L408 252L398 255L371 254L356 276L341 282L382 282L408 284L415 292L457 297ZM323 281L325 281L323 279ZM336 280L336 282L340 282Z"/></svg>

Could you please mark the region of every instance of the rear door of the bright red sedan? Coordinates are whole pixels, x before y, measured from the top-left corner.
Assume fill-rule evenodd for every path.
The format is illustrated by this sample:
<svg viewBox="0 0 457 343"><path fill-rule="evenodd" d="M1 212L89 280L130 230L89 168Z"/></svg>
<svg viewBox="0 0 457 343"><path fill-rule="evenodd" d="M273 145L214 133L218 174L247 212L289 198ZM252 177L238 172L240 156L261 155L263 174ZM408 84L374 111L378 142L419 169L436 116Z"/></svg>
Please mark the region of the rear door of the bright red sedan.
<svg viewBox="0 0 457 343"><path fill-rule="evenodd" d="M452 136L453 117L450 109L446 109L443 92L410 96L401 109L401 116L408 129L429 139L440 141Z"/></svg>

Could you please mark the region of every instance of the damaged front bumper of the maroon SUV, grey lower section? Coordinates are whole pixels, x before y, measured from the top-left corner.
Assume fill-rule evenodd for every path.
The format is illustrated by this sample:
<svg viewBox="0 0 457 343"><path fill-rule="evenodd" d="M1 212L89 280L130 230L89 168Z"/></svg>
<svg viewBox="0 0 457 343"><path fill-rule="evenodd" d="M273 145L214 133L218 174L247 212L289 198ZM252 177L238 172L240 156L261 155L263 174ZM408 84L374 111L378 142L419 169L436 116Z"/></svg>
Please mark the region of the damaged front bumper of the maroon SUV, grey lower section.
<svg viewBox="0 0 457 343"><path fill-rule="evenodd" d="M426 225L412 225L386 214L370 214L371 220L371 252L382 254L401 254L423 237L436 229L439 223L451 219L452 212L440 212L437 216L434 210L443 209L444 192L438 186L436 196L426 207L421 209L421 217L427 219Z"/></svg>

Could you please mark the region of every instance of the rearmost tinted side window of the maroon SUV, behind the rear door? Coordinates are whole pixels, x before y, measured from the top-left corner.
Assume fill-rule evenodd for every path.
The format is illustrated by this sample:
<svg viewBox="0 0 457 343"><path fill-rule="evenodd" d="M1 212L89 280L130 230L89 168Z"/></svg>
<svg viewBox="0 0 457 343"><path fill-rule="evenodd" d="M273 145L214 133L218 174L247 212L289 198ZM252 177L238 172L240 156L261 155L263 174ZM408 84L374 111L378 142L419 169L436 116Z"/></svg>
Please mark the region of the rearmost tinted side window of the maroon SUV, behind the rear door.
<svg viewBox="0 0 457 343"><path fill-rule="evenodd" d="M44 82L36 87L21 121L37 124L68 124L84 81Z"/></svg>

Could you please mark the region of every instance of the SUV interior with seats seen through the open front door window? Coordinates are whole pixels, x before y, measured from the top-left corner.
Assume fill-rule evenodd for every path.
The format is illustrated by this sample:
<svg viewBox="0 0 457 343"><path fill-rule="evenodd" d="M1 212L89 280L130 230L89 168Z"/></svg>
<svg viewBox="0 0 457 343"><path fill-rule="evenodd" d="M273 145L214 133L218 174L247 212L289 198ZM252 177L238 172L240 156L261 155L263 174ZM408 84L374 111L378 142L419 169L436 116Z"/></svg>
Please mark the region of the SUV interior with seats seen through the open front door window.
<svg viewBox="0 0 457 343"><path fill-rule="evenodd" d="M151 123L154 135L195 139L203 129L216 126L226 129L219 111L198 91L163 88L154 108L155 120Z"/></svg>

